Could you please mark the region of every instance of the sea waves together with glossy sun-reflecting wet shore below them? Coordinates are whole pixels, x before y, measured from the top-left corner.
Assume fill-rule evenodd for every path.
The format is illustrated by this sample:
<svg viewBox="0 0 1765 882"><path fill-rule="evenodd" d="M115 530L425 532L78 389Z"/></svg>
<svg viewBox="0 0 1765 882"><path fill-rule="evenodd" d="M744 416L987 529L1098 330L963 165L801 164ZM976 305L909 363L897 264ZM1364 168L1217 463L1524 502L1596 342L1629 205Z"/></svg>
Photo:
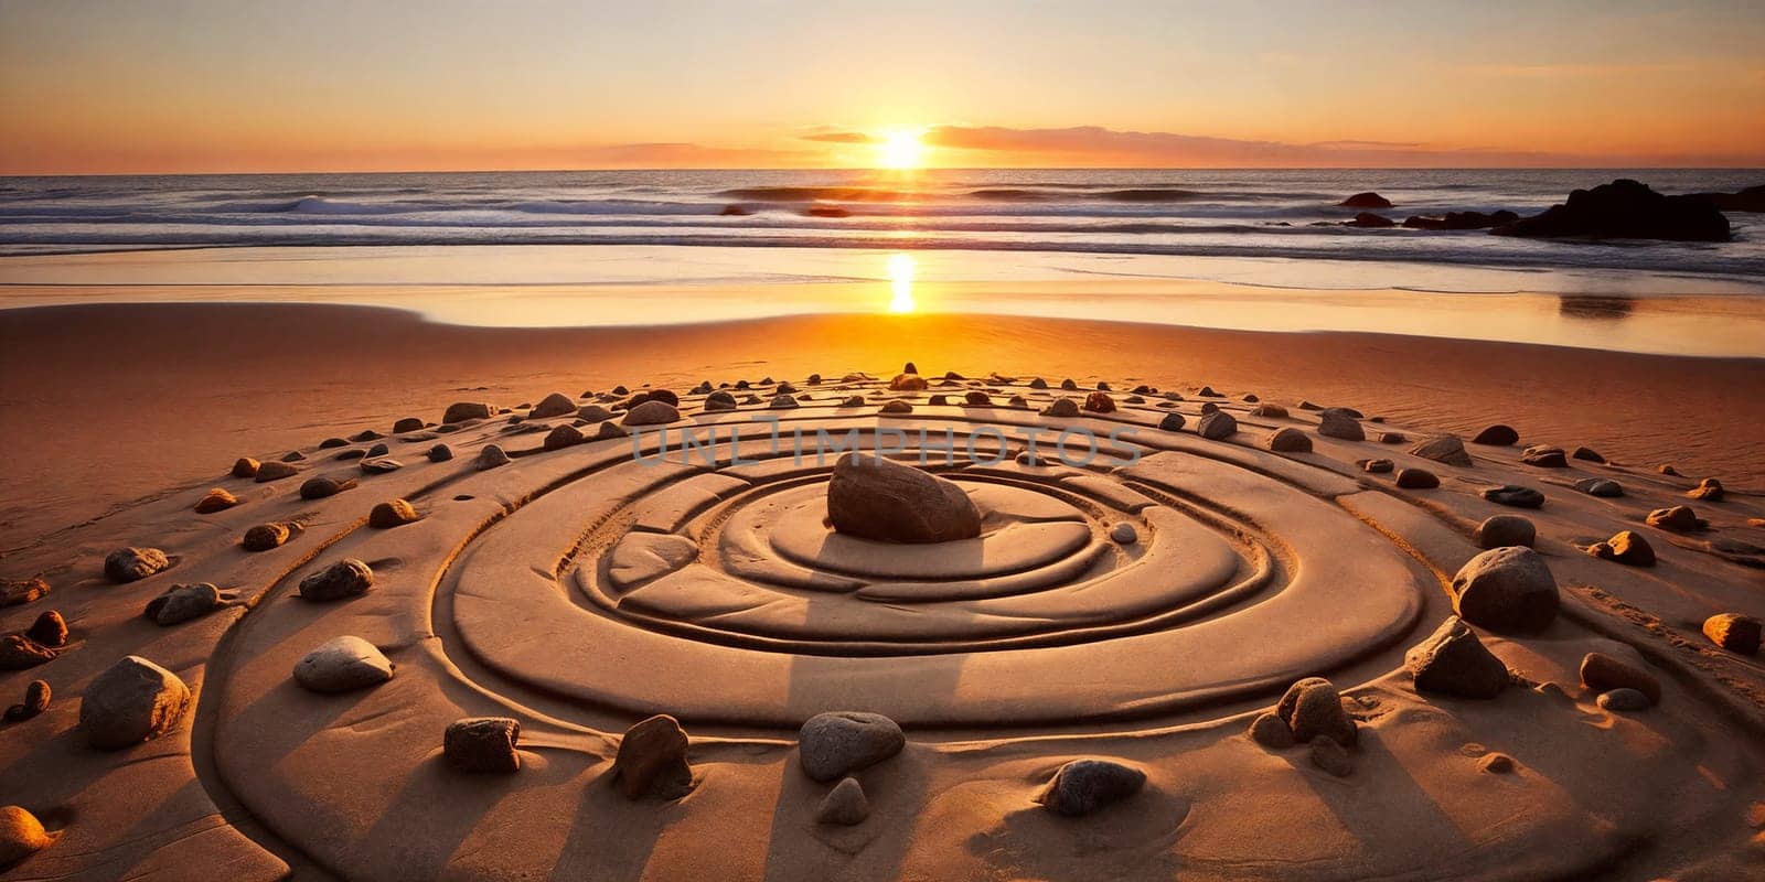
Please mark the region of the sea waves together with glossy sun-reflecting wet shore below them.
<svg viewBox="0 0 1765 882"><path fill-rule="evenodd" d="M464 325L976 312L1765 355L1765 224L1733 242L1357 229L1536 213L1728 169L542 171L0 178L0 309L319 302ZM635 286L650 286L637 291Z"/></svg>

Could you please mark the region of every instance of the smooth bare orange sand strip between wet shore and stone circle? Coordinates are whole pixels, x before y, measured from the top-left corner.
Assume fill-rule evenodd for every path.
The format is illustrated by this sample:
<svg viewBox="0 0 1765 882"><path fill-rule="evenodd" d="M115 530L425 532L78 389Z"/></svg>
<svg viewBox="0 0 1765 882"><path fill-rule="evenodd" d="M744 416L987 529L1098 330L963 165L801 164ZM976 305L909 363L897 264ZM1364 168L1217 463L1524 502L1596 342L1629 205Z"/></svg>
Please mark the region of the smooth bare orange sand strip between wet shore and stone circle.
<svg viewBox="0 0 1765 882"><path fill-rule="evenodd" d="M1756 358L1010 316L471 328L388 309L251 303L4 310L0 337L0 429L14 450L0 480L18 489L0 510L0 550L192 487L238 455L390 425L462 395L519 404L551 390L685 388L907 360L1087 385L1213 383L1234 393L1348 400L1461 434L1507 422L1527 437L1585 443L1638 467L1673 464L1765 485L1765 437L1751 430L1765 422L1765 402L1733 393L1765 386ZM67 420L72 402L81 402L78 420Z"/></svg>

